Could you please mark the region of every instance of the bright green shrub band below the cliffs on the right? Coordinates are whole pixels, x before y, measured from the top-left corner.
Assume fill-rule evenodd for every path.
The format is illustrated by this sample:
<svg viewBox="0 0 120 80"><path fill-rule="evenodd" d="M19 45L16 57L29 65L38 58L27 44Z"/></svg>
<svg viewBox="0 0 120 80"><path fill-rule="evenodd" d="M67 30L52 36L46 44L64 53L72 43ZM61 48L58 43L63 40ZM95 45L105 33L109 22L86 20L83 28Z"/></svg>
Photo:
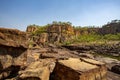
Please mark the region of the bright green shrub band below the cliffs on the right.
<svg viewBox="0 0 120 80"><path fill-rule="evenodd" d="M72 40L65 42L66 45L72 43L81 43L81 42L107 42L107 41L120 41L120 33L118 34L88 34L88 35L79 35L74 37Z"/></svg>

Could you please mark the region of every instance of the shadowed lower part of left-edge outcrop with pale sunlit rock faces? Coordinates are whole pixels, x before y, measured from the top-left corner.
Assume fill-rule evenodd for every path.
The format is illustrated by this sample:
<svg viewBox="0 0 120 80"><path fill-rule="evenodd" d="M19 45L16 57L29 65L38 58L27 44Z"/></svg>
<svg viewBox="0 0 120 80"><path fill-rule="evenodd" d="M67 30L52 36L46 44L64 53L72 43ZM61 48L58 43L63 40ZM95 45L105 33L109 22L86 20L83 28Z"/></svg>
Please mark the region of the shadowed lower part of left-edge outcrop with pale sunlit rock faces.
<svg viewBox="0 0 120 80"><path fill-rule="evenodd" d="M12 66L26 65L26 49L0 45L0 79L8 77L13 69Z"/></svg>

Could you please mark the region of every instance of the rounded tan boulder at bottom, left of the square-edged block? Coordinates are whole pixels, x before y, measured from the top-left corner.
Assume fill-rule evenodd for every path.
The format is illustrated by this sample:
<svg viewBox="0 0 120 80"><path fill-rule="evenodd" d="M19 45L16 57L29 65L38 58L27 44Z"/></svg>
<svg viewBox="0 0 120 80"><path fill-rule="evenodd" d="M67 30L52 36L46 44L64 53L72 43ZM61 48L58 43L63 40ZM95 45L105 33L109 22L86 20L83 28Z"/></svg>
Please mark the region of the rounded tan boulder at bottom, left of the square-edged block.
<svg viewBox="0 0 120 80"><path fill-rule="evenodd" d="M36 61L19 74L20 80L49 80L50 70L45 63Z"/></svg>

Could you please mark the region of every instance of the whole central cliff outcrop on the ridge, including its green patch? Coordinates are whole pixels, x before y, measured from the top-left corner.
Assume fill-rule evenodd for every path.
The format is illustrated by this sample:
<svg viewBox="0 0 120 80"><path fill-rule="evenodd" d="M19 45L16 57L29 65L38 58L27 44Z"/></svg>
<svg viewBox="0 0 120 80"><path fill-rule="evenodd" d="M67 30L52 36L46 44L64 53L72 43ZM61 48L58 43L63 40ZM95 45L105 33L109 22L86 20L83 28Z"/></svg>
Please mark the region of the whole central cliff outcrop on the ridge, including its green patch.
<svg viewBox="0 0 120 80"><path fill-rule="evenodd" d="M70 24L51 24L46 27L28 26L29 41L40 45L45 43L61 43L72 39L74 29Z"/></svg>

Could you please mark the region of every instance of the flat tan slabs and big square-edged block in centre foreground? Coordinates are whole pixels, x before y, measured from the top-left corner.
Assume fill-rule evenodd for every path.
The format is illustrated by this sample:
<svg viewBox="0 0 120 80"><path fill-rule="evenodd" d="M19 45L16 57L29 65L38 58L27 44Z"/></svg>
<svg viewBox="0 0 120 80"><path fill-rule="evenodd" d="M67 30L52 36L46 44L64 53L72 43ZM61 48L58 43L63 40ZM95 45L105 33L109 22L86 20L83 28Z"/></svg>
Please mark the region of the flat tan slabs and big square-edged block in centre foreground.
<svg viewBox="0 0 120 80"><path fill-rule="evenodd" d="M62 47L50 45L47 48L30 49L27 58L29 63L39 60L50 61L51 65L48 65L50 80L86 80L88 78L106 80L107 68L104 63L89 58L80 58L77 52Z"/></svg>

